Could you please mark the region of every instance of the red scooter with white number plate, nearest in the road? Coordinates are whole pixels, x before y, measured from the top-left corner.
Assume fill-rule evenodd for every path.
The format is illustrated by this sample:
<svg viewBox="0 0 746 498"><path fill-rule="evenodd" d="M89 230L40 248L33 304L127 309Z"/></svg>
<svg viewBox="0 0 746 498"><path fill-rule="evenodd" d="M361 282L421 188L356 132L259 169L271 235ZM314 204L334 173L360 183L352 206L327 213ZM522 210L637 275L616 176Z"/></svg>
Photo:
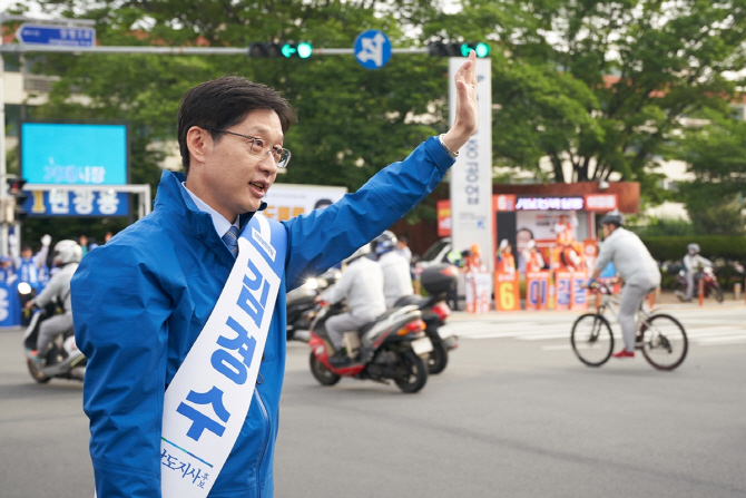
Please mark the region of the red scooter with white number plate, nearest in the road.
<svg viewBox="0 0 746 498"><path fill-rule="evenodd" d="M311 373L322 385L334 385L343 377L387 383L393 380L403 392L421 390L428 381L422 357L432 351L423 332L425 324L416 306L394 307L357 332L345 333L352 364L335 368L328 362L334 348L326 333L328 318L342 313L340 304L323 304L311 326Z"/></svg>

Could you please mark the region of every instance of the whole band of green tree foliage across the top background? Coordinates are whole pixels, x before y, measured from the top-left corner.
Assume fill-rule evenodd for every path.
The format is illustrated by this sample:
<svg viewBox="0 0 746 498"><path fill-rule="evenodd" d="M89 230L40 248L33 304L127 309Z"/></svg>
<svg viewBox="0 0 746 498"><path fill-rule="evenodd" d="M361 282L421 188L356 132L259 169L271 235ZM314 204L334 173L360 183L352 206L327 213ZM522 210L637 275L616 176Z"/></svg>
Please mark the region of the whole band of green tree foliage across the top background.
<svg viewBox="0 0 746 498"><path fill-rule="evenodd" d="M726 75L745 61L746 0L461 4L458 13L425 0L49 0L43 8L95 19L101 45L340 48L365 29L385 31L395 47L489 39L494 164L544 182L638 180L648 201L662 199L650 172L681 119L727 115L738 81ZM445 60L426 56L395 56L370 71L341 56L80 55L56 57L47 70L62 79L43 116L127 119L134 178L153 184L179 97L225 74L277 88L298 111L286 137L294 158L278 182L355 189L448 125Z"/></svg>

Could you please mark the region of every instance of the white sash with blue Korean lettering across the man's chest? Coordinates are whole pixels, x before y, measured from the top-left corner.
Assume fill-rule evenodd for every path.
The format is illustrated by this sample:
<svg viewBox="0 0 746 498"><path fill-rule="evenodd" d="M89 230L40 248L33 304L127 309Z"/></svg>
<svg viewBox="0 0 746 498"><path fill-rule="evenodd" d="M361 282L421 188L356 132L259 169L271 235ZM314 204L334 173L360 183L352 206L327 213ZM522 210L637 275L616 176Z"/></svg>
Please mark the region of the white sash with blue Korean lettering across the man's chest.
<svg viewBox="0 0 746 498"><path fill-rule="evenodd" d="M285 227L255 214L205 328L166 390L160 440L164 498L204 498L251 404L285 265Z"/></svg>

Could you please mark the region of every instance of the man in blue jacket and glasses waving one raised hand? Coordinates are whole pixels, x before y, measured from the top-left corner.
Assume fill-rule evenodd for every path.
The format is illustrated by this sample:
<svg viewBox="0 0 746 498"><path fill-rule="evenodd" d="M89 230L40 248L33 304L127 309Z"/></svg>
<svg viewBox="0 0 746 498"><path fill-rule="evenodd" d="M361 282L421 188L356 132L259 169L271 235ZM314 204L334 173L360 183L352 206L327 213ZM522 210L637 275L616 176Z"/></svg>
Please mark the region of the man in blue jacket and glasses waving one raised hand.
<svg viewBox="0 0 746 498"><path fill-rule="evenodd" d="M356 193L276 225L286 241L276 253L284 253L279 262L284 272L274 307L267 306L266 342L254 357L259 361L251 362L255 343L249 348L246 341L253 338L244 338L239 350L247 367L259 365L258 374L248 396L251 409L241 419L235 443L217 475L206 472L206 467L202 473L178 467L179 456L186 458L179 450L187 449L171 448L173 455L161 450L161 438L167 439L161 432L166 390L177 384L175 377L180 375L187 355L199 353L192 350L199 349L195 343L207 333L208 318L220 305L234 264L238 266L236 262L248 254L248 244L236 247L236 233L243 238L252 223L266 224L266 218L255 214L266 206L262 198L277 168L287 166L291 154L283 148L283 138L295 116L276 91L239 77L207 81L186 94L178 113L184 175L164 172L154 212L91 251L71 283L76 340L88 358L84 410L90 419L99 498L159 497L166 475L161 472L179 472L196 487L207 482L210 497L274 495L274 445L285 368L285 292L370 242L438 185L477 130L474 66L472 52L455 75L457 114L448 133L429 138ZM254 242L264 241L259 232L254 230ZM251 272L247 275L242 292L253 285ZM234 326L236 332L239 329ZM217 342L222 340L234 341L220 336ZM244 370L235 362L235 370L226 370L228 363L214 361L213 365L226 375ZM245 375L239 380L245 381ZM234 420L222 404L230 400L220 394L216 389L192 391L187 400L193 407L209 403L222 420ZM215 423L218 419L203 420L194 410L179 413L184 417L177 418L194 421L190 437L195 441L213 436L208 431L222 431L223 426ZM175 495L163 489L167 498Z"/></svg>

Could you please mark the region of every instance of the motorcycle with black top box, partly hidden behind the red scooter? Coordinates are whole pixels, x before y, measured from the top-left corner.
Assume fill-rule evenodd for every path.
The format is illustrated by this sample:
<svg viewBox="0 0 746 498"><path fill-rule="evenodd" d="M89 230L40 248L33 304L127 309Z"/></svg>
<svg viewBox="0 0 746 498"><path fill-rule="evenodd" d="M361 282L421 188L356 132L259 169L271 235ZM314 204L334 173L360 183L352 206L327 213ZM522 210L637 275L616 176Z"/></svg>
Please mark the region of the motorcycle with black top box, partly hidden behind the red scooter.
<svg viewBox="0 0 746 498"><path fill-rule="evenodd" d="M459 346L459 338L445 325L451 309L445 303L449 290L455 285L459 270L451 264L429 266L420 274L420 284L428 292L428 297L405 295L400 297L395 306L415 305L422 312L425 322L425 334L432 342L433 350L426 359L428 371L438 374L448 364L449 351Z"/></svg>

